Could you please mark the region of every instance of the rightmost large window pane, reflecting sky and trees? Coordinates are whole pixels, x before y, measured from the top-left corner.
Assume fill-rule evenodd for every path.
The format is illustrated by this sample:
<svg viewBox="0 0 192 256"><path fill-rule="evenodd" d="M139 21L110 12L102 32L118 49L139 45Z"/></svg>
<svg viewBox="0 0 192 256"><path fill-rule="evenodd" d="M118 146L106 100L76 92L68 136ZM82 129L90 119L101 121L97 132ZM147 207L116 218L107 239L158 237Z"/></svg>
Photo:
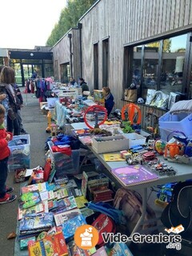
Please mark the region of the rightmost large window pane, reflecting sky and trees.
<svg viewBox="0 0 192 256"><path fill-rule="evenodd" d="M187 34L163 40L160 89L182 92Z"/></svg>

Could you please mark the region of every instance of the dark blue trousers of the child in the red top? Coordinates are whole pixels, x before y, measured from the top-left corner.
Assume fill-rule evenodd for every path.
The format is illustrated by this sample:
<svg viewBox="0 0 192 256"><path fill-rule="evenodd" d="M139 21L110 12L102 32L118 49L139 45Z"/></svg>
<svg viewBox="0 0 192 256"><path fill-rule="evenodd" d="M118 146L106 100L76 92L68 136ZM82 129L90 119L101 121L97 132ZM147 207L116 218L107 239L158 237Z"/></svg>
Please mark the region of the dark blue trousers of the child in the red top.
<svg viewBox="0 0 192 256"><path fill-rule="evenodd" d="M0 160L0 198L6 195L6 178L8 173L8 158Z"/></svg>

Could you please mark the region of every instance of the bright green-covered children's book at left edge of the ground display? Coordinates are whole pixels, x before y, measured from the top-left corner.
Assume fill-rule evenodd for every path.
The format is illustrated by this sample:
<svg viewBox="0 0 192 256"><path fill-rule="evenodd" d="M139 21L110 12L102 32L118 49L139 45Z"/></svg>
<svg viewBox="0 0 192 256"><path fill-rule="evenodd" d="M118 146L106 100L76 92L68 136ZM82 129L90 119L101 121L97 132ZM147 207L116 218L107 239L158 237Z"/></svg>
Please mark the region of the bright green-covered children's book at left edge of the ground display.
<svg viewBox="0 0 192 256"><path fill-rule="evenodd" d="M25 194L22 194L19 198L18 205L21 209L30 208L31 206L36 206L38 203L42 202L42 198L38 190L34 190Z"/></svg>

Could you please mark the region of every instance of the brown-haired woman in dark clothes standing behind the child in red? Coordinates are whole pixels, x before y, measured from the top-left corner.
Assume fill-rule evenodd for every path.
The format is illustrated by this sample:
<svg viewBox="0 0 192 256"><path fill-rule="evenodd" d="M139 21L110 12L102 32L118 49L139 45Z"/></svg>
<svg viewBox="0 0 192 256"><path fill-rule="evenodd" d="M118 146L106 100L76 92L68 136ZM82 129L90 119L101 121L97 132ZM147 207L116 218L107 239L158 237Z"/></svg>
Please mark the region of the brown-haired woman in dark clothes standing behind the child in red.
<svg viewBox="0 0 192 256"><path fill-rule="evenodd" d="M14 87L11 85L14 83L14 70L5 66L0 74L0 94L6 94L6 98L1 102L6 109L6 130L11 133L14 131L14 135L19 135L18 108L20 104Z"/></svg>

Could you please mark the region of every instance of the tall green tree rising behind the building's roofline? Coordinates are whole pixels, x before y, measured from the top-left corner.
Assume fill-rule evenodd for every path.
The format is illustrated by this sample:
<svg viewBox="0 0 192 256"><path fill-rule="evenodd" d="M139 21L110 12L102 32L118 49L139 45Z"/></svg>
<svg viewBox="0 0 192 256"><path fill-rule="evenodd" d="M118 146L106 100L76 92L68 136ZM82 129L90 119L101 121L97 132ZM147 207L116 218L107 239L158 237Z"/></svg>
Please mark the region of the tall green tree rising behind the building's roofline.
<svg viewBox="0 0 192 256"><path fill-rule="evenodd" d="M55 24L46 41L46 46L54 46L70 28L77 27L79 18L90 9L94 2L96 0L69 0L67 6L62 9L58 23Z"/></svg>

